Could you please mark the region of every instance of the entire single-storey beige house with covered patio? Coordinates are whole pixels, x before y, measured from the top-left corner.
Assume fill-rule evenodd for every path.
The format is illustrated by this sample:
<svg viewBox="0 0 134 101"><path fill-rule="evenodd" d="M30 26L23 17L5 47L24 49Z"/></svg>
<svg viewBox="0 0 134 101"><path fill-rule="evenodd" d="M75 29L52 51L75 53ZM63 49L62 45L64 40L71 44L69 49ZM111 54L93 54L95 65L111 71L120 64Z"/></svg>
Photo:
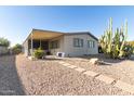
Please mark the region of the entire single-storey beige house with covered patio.
<svg viewBox="0 0 134 101"><path fill-rule="evenodd" d="M32 29L23 43L25 55L31 55L35 49L41 47L49 53L56 55L64 52L65 56L80 56L98 53L98 39L89 31L59 33Z"/></svg>

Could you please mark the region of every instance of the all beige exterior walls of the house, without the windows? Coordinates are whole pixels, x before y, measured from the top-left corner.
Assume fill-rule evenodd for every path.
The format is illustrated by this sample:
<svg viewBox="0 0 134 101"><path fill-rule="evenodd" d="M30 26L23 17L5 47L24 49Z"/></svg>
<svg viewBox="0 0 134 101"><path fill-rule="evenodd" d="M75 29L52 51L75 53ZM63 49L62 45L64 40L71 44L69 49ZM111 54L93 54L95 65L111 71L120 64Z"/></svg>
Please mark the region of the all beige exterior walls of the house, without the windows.
<svg viewBox="0 0 134 101"><path fill-rule="evenodd" d="M83 47L81 47L81 48L73 47L73 38L83 39ZM65 56L81 56L84 54L97 54L98 53L97 40L95 40L88 34L62 35L59 37L55 37L55 38L49 40L49 43L54 40L59 41L59 48L57 48L57 49L49 48L53 55L56 55L57 52L65 52ZM94 40L95 48L88 48L88 40ZM25 41L25 43L23 46L24 46L25 55L28 55L28 41Z"/></svg>

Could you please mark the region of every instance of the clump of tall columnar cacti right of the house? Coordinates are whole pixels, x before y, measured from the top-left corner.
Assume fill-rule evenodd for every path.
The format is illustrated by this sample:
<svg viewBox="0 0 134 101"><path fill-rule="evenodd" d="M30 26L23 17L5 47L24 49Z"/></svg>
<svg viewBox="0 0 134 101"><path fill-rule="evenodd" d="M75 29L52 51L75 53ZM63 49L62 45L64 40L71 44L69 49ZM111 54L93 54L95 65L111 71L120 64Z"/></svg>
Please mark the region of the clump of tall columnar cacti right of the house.
<svg viewBox="0 0 134 101"><path fill-rule="evenodd" d="M115 36L113 36L115 35ZM110 23L108 29L99 39L99 43L104 53L111 58L122 58L124 55L124 48L128 36L128 22L125 22L125 28L117 28L115 34L112 33L112 18L110 17Z"/></svg>

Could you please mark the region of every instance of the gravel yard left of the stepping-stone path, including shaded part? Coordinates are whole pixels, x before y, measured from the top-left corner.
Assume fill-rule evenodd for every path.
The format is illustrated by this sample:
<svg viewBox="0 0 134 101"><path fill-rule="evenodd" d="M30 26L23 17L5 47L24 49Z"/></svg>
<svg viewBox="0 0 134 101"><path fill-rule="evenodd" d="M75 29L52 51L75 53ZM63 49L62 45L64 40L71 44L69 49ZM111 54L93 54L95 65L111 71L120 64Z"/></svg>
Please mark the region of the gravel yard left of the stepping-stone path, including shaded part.
<svg viewBox="0 0 134 101"><path fill-rule="evenodd" d="M112 85L62 66L57 60L30 61L23 55L0 58L0 90L6 94L131 94ZM5 93L0 93L5 94Z"/></svg>

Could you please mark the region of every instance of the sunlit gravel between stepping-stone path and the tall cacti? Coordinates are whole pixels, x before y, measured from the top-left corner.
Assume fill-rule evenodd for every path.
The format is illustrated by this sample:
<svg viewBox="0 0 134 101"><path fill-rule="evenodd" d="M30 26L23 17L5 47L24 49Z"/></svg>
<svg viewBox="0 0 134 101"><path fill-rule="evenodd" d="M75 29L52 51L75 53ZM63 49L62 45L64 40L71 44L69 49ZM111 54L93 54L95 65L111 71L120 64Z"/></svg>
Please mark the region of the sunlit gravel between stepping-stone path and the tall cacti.
<svg viewBox="0 0 134 101"><path fill-rule="evenodd" d="M93 56L111 65L92 65L90 59ZM91 55L89 58L66 58L65 62L134 85L134 60L112 60L104 55Z"/></svg>

